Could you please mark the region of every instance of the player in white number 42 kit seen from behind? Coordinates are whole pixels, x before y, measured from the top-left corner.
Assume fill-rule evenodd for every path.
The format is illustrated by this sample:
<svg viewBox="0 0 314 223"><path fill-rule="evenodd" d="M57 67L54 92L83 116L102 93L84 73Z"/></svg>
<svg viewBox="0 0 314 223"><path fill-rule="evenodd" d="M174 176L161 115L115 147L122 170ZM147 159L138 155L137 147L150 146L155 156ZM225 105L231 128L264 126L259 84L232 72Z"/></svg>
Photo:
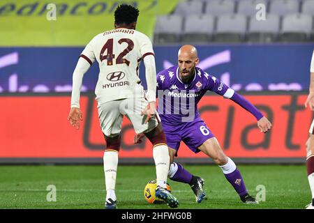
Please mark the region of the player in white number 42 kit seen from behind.
<svg viewBox="0 0 314 223"><path fill-rule="evenodd" d="M165 133L155 111L156 65L151 40L144 33L135 31L139 10L130 5L120 5L114 11L114 29L95 36L85 47L73 72L70 124L80 128L80 89L83 75L96 60L99 76L96 85L96 100L100 127L106 141L103 155L105 171L105 208L117 208L114 192L121 123L124 115L130 119L136 133L144 132L153 144L156 164L156 197L163 199L171 208L179 202L166 189L170 156ZM147 93L139 78L140 62L144 62Z"/></svg>

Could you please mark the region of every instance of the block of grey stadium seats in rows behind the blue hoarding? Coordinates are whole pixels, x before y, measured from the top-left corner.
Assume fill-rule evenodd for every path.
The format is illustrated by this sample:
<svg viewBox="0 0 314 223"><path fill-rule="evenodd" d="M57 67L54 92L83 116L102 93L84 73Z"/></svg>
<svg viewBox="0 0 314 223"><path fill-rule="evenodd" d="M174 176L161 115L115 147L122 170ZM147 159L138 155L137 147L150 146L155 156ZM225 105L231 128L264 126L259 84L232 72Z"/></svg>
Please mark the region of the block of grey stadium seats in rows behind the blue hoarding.
<svg viewBox="0 0 314 223"><path fill-rule="evenodd" d="M266 20L256 19L258 3ZM314 0L190 0L180 2L174 15L181 21L171 29L157 20L156 44L314 41ZM160 22L168 27L163 32Z"/></svg>

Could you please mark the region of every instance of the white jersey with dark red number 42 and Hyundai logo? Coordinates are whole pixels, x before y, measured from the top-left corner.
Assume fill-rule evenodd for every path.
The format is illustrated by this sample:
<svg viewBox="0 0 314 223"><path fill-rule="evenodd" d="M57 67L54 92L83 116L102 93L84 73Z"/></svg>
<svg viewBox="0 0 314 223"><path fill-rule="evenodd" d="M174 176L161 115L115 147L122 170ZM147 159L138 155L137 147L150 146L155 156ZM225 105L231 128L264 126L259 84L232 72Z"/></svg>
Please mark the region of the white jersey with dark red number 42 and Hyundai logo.
<svg viewBox="0 0 314 223"><path fill-rule="evenodd" d="M140 61L154 55L151 40L133 29L113 29L95 36L80 57L99 64L95 93L98 105L122 98L142 98Z"/></svg>

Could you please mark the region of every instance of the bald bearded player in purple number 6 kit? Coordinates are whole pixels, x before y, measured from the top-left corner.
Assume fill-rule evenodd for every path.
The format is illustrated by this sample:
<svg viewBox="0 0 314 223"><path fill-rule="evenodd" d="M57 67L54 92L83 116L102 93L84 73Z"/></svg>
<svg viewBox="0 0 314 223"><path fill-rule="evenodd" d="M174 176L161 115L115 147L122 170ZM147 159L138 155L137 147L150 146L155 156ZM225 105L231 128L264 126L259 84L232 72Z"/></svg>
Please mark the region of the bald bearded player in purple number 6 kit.
<svg viewBox="0 0 314 223"><path fill-rule="evenodd" d="M218 164L242 202L258 203L248 194L244 179L236 164L223 153L216 137L200 117L197 112L197 103L204 93L213 91L236 102L253 114L257 119L260 132L265 133L270 130L271 123L251 102L216 77L197 68L198 63L197 49L193 45L184 45L179 49L178 66L163 70L157 75L158 114L170 153L171 165L168 176L171 180L190 184L197 203L204 199L204 180L190 174L181 164L173 162L180 142L184 141L191 151L194 153L202 151ZM140 143L141 138L142 134L137 134L135 143Z"/></svg>

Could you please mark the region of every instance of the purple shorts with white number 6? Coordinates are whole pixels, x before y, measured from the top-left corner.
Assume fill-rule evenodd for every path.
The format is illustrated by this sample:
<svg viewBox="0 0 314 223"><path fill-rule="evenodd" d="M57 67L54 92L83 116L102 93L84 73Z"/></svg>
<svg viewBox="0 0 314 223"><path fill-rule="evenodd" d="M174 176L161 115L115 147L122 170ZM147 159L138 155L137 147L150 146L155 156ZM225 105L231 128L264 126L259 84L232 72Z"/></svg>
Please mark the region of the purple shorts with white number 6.
<svg viewBox="0 0 314 223"><path fill-rule="evenodd" d="M202 118L195 118L194 121L181 125L167 125L163 121L161 123L168 147L174 148L176 151L179 150L180 142L184 141L184 144L191 151L198 153L200 150L197 147L201 146L207 139L214 137Z"/></svg>

